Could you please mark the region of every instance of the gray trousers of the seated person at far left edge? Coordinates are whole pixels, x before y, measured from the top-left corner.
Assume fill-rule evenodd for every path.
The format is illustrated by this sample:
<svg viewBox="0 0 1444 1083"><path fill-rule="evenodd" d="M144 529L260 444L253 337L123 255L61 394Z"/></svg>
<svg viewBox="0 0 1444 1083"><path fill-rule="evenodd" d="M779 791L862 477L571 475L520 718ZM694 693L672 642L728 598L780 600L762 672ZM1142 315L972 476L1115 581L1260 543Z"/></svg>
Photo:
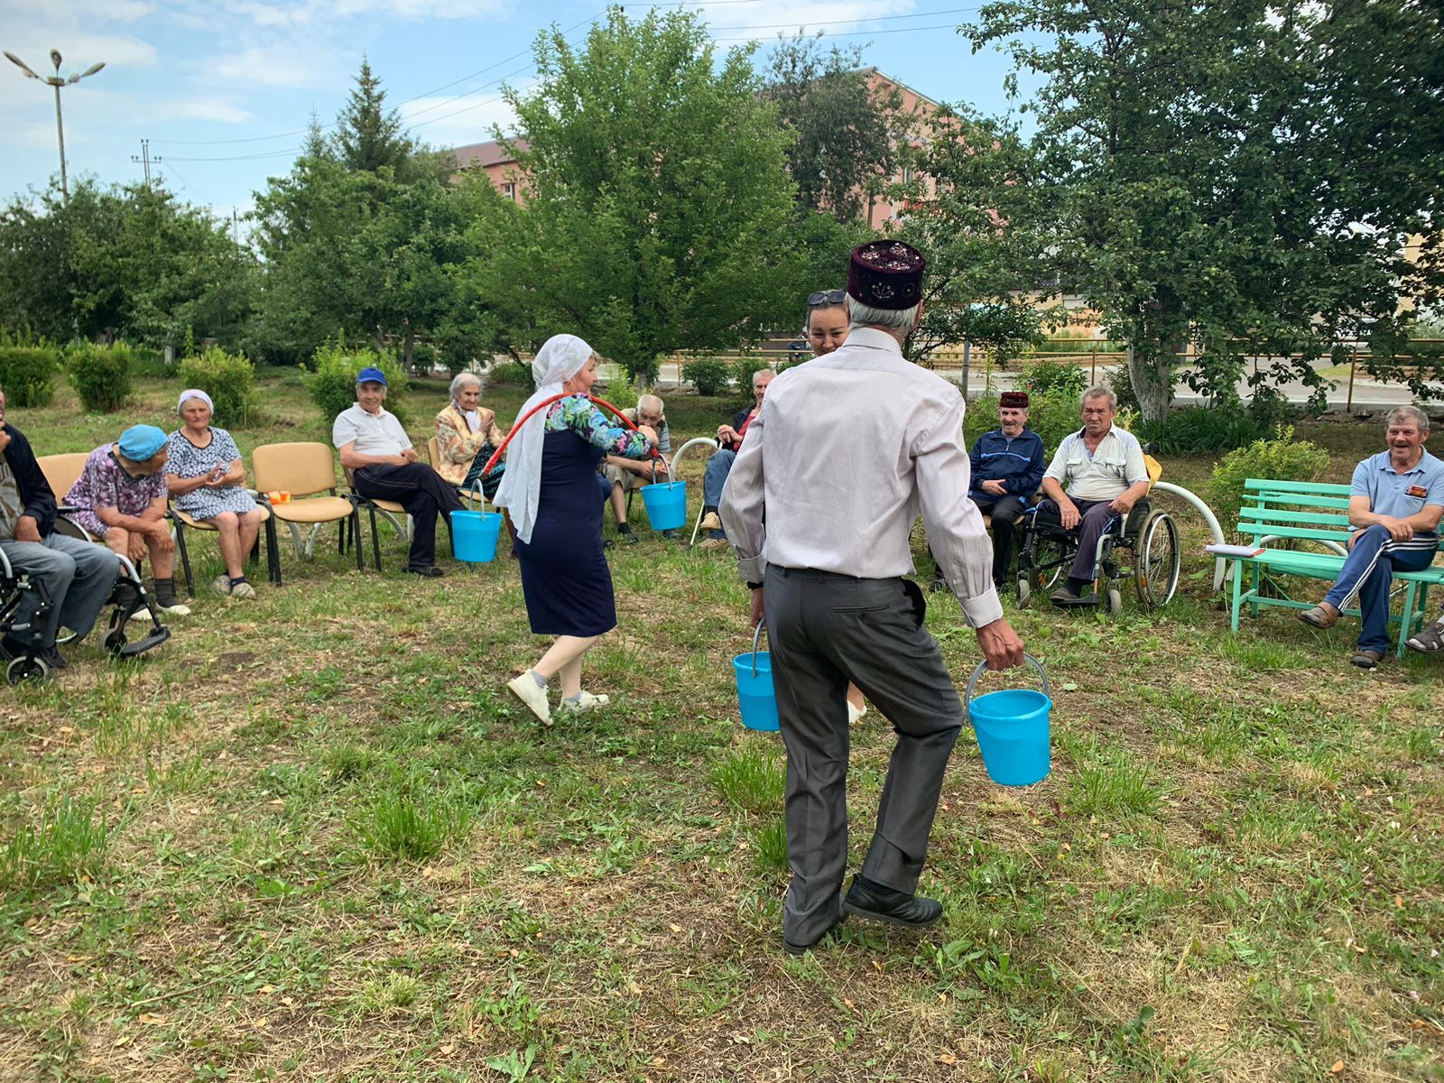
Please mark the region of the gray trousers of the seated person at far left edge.
<svg viewBox="0 0 1444 1083"><path fill-rule="evenodd" d="M55 645L55 632L64 624L77 637L95 627L110 591L120 576L120 559L105 546L78 537L51 534L43 542L0 540L10 567L26 572L30 582L42 583L51 599L51 612L38 630L19 631L16 638L33 640L40 648ZM30 622L39 599L27 593L14 614L16 627Z"/></svg>

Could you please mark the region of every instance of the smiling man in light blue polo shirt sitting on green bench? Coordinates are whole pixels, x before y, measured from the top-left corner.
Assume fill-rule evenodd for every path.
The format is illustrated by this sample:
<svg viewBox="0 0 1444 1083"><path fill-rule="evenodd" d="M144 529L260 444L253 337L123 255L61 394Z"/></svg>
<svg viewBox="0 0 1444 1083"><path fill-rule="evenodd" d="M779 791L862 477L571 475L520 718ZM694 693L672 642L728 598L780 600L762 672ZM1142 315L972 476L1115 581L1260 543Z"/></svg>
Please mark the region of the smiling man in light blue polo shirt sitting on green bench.
<svg viewBox="0 0 1444 1083"><path fill-rule="evenodd" d="M1418 572L1434 562L1440 516L1444 516L1444 462L1424 451L1428 414L1415 406L1401 406L1389 412L1388 426L1388 451L1354 466L1349 523L1359 533L1339 579L1324 601L1298 614L1304 624L1331 628L1357 598L1363 627L1350 661L1365 670L1383 661L1389 650L1393 573Z"/></svg>

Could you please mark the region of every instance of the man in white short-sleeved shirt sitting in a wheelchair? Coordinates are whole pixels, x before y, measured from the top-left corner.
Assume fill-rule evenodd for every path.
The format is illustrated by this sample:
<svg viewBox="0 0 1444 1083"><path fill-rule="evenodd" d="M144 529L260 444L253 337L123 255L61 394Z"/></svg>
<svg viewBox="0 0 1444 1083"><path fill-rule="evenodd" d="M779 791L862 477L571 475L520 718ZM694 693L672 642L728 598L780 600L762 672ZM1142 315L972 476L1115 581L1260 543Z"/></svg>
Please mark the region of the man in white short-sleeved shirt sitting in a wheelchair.
<svg viewBox="0 0 1444 1083"><path fill-rule="evenodd" d="M1063 438L1043 474L1038 520L1079 531L1079 552L1069 580L1048 601L1060 606L1097 605L1092 589L1097 540L1115 516L1126 516L1148 494L1148 465L1138 438L1113 425L1118 396L1103 387L1083 393L1083 427ZM1066 490L1066 491L1064 491Z"/></svg>

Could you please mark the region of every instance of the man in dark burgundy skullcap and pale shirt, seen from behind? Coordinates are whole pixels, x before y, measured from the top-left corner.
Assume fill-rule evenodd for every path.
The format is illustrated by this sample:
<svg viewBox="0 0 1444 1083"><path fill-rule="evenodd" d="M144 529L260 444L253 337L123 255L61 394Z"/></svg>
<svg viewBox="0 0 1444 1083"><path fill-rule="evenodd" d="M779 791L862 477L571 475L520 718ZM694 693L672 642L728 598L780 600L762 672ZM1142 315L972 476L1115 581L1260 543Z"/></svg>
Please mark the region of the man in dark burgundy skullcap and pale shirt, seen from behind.
<svg viewBox="0 0 1444 1083"><path fill-rule="evenodd" d="M969 482L963 397L902 357L923 312L923 269L900 241L852 253L846 344L773 381L722 492L752 619L767 621L787 747L793 881L783 941L794 954L846 914L907 927L941 915L915 891L963 705L923 627L923 592L904 579L920 510L988 666L1022 661L993 589L982 514L959 500ZM898 739L872 845L842 897L849 679Z"/></svg>

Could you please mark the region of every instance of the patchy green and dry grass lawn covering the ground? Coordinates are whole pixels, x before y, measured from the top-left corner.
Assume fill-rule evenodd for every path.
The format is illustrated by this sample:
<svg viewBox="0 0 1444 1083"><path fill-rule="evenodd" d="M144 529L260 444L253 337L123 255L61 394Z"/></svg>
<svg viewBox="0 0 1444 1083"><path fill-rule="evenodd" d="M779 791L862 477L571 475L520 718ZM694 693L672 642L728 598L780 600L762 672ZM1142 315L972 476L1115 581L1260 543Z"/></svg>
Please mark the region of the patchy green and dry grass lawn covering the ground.
<svg viewBox="0 0 1444 1083"><path fill-rule="evenodd" d="M175 390L10 420L84 451L170 425ZM260 391L243 449L326 439L295 374ZM443 400L413 393L417 443ZM669 396L674 439L732 409ZM1336 481L1379 443L1301 435ZM1210 465L1165 477L1201 491ZM328 533L137 663L72 650L0 693L0 1079L1438 1080L1438 661L1360 674L1352 628L1287 615L1229 635L1175 510L1164 612L1009 606L1053 682L1053 774L996 787L962 732L921 881L943 920L849 921L803 959L778 933L784 758L736 715L745 591L640 504L586 663L614 706L552 729L504 690L543 645L516 566L422 582L388 533L384 576ZM956 604L927 622L966 677ZM856 869L894 735L874 709L851 738Z"/></svg>

